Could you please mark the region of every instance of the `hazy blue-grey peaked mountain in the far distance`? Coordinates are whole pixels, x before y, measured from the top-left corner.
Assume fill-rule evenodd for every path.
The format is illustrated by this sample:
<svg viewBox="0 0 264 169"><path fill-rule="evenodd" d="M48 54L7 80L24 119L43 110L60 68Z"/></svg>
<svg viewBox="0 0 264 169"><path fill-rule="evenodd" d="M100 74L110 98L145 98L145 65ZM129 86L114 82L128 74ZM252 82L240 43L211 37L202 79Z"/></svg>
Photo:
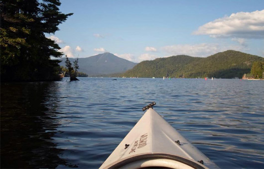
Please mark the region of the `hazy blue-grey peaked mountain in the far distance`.
<svg viewBox="0 0 264 169"><path fill-rule="evenodd" d="M60 66L65 67L66 58L61 58ZM69 58L73 63L76 58ZM123 73L132 69L137 63L122 59L112 53L102 53L91 57L79 58L78 65L79 71L88 75L102 75Z"/></svg>

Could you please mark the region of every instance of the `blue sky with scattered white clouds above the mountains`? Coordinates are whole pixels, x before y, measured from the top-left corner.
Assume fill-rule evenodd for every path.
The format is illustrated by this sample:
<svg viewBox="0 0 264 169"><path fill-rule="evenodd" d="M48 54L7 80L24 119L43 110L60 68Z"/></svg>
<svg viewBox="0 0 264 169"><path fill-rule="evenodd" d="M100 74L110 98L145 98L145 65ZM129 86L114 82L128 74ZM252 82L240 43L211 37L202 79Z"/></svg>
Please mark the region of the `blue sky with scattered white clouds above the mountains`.
<svg viewBox="0 0 264 169"><path fill-rule="evenodd" d="M55 40L68 57L132 62L237 50L264 57L264 0L60 0Z"/></svg>

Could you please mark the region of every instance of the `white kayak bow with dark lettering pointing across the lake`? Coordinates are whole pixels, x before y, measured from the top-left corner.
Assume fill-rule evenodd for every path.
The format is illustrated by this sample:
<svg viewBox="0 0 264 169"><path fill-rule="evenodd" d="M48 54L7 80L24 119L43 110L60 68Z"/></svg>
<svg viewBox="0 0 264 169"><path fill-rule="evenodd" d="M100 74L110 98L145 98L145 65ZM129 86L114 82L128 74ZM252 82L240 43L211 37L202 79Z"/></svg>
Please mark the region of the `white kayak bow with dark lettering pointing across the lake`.
<svg viewBox="0 0 264 169"><path fill-rule="evenodd" d="M100 169L219 169L170 126L152 105Z"/></svg>

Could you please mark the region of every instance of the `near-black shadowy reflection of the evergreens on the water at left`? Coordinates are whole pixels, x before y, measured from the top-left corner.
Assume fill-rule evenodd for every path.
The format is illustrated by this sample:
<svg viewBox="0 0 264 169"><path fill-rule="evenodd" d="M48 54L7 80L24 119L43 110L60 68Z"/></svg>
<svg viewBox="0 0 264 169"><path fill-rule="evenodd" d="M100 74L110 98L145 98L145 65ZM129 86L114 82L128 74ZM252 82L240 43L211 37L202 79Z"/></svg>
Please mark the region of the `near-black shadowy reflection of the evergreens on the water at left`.
<svg viewBox="0 0 264 169"><path fill-rule="evenodd" d="M56 168L57 84L1 84L1 168Z"/></svg>

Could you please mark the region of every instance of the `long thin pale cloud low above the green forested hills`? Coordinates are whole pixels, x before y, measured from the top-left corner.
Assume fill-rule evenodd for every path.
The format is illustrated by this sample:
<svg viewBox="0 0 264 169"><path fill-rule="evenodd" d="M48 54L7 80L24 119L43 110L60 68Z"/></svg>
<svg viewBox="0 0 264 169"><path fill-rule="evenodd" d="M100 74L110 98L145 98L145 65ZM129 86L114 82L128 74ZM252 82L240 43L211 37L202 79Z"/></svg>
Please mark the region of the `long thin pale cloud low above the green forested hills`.
<svg viewBox="0 0 264 169"><path fill-rule="evenodd" d="M240 45L219 45L215 43L200 43L200 44L178 44L171 46L164 46L163 51L171 55L189 55L196 57L207 57L212 54L226 51L226 50L243 50Z"/></svg>

